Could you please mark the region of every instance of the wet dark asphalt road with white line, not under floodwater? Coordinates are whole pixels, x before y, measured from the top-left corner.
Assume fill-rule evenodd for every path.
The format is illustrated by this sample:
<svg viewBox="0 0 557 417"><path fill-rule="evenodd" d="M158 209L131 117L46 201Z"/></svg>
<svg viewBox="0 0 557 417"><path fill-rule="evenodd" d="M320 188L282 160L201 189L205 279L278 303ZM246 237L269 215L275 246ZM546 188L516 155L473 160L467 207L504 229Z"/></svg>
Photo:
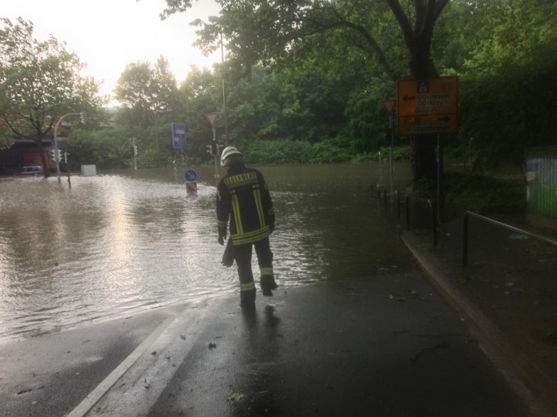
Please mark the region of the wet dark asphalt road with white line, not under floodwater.
<svg viewBox="0 0 557 417"><path fill-rule="evenodd" d="M535 415L417 267L13 341L0 366L6 417Z"/></svg>

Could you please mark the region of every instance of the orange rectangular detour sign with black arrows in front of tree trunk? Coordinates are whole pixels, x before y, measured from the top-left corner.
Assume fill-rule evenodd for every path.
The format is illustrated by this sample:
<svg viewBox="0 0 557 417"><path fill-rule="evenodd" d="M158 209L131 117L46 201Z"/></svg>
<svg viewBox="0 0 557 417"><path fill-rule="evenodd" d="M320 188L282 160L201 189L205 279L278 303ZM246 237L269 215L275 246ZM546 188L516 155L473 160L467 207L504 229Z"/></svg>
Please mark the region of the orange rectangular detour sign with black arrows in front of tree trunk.
<svg viewBox="0 0 557 417"><path fill-rule="evenodd" d="M456 132L457 86L458 79L455 76L398 81L398 134Z"/></svg>

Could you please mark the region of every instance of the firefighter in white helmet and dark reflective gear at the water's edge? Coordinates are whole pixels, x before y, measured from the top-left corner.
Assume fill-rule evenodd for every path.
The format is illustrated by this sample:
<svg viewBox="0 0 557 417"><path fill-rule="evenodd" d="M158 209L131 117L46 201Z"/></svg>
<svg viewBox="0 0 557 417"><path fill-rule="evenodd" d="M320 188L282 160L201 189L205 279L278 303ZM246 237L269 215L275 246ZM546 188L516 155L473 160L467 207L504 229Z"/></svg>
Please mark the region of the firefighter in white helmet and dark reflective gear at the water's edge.
<svg viewBox="0 0 557 417"><path fill-rule="evenodd" d="M240 276L240 306L254 309L256 285L251 271L252 246L256 248L263 295L272 296L272 290L277 288L269 245L269 235L274 231L273 202L263 175L246 167L238 149L233 146L223 149L221 165L227 173L217 185L219 243L224 244L230 218L232 245L227 246L233 252Z"/></svg>

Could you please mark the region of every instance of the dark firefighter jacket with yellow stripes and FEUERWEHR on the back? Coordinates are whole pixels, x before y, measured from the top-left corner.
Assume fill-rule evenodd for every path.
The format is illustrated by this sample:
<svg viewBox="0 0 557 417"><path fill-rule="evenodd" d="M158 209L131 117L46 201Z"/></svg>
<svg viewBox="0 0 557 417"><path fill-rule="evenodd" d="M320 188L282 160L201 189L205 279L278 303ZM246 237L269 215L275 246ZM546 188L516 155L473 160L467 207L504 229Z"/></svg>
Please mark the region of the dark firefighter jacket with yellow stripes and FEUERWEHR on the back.
<svg viewBox="0 0 557 417"><path fill-rule="evenodd" d="M244 165L230 167L217 186L219 236L226 236L230 217L233 245L253 243L274 229L271 195L261 172Z"/></svg>

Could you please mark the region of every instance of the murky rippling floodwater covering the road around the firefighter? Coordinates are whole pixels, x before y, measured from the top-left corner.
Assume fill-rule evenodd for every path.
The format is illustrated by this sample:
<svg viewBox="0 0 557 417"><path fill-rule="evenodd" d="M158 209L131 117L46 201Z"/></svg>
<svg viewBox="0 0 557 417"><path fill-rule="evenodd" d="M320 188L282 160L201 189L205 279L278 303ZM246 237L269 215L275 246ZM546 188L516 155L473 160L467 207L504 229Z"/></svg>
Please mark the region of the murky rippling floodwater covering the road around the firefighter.
<svg viewBox="0 0 557 417"><path fill-rule="evenodd" d="M0 179L0 341L238 293L235 266L220 263L214 167L193 168L195 195L185 168L72 176L71 187L65 177ZM386 164L259 168L274 199L281 288L411 265L370 197ZM394 172L395 186L409 182L406 164ZM257 281L256 265L254 254Z"/></svg>

